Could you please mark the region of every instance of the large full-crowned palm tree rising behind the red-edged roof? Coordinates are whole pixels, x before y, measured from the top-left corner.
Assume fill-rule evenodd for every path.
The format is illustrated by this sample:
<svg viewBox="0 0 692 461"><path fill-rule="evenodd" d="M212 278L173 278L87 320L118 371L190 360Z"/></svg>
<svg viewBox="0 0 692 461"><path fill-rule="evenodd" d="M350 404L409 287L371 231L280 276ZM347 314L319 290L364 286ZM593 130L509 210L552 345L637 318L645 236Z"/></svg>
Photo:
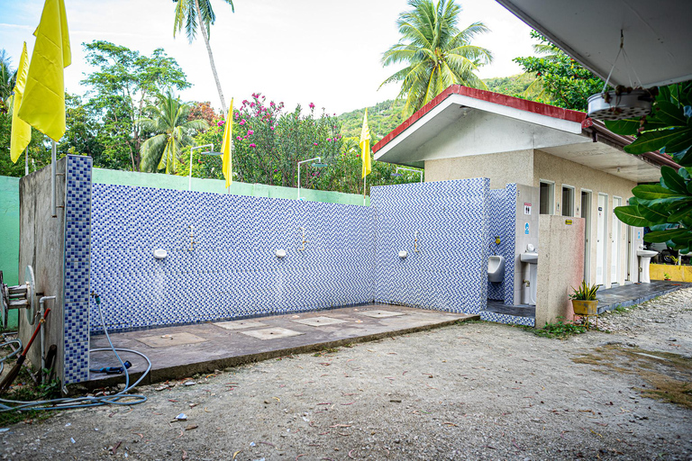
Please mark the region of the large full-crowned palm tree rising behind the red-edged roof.
<svg viewBox="0 0 692 461"><path fill-rule="evenodd" d="M486 25L472 23L460 31L461 7L453 0L409 0L408 5L413 10L396 21L401 39L382 57L384 66L407 64L382 83L402 82L397 97L405 98L404 113L414 113L454 84L487 88L474 72L491 62L492 54L470 45L475 35L489 31Z"/></svg>

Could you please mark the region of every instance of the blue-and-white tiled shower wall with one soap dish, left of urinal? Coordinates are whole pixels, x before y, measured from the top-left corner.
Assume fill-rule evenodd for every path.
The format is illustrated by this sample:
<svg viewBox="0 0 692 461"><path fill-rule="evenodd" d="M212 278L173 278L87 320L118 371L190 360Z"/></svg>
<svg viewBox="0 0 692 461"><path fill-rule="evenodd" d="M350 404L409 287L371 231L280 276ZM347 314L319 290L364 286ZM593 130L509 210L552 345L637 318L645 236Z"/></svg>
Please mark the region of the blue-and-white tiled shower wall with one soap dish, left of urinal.
<svg viewBox="0 0 692 461"><path fill-rule="evenodd" d="M375 301L449 312L484 310L488 189L487 178L373 187ZM408 252L405 259L398 257L402 249Z"/></svg>

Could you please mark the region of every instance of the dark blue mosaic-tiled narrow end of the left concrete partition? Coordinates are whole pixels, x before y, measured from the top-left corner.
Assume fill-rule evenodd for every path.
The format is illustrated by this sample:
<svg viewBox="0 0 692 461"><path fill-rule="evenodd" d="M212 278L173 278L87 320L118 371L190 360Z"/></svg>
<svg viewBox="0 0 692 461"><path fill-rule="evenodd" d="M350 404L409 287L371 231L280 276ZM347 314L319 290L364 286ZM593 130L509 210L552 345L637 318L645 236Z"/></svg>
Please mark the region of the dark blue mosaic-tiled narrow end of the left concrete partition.
<svg viewBox="0 0 692 461"><path fill-rule="evenodd" d="M65 177L64 384L89 374L91 158L68 156Z"/></svg>

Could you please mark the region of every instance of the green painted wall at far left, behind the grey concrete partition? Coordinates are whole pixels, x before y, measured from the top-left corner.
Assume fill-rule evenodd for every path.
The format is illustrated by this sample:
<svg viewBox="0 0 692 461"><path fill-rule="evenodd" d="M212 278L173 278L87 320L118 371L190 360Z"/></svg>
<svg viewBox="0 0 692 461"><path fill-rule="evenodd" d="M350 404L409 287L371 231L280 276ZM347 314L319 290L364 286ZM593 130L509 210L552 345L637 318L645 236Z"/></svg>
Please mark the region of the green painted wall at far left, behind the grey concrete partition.
<svg viewBox="0 0 692 461"><path fill-rule="evenodd" d="M0 270L6 285L19 284L19 178L0 176ZM23 276L23 274L22 274ZM23 282L23 281L22 281ZM7 326L17 327L17 311Z"/></svg>

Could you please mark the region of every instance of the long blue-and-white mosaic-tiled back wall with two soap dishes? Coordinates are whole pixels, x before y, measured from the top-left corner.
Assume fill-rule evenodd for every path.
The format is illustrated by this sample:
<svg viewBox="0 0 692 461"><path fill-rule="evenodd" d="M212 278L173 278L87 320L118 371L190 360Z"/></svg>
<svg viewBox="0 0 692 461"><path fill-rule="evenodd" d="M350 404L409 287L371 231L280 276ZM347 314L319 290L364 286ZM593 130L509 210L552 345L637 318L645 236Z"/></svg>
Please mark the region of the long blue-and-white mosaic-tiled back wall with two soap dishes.
<svg viewBox="0 0 692 461"><path fill-rule="evenodd" d="M92 190L91 288L109 330L372 301L369 207L122 185ZM159 248L168 258L153 258ZM95 309L90 328L99 331Z"/></svg>

